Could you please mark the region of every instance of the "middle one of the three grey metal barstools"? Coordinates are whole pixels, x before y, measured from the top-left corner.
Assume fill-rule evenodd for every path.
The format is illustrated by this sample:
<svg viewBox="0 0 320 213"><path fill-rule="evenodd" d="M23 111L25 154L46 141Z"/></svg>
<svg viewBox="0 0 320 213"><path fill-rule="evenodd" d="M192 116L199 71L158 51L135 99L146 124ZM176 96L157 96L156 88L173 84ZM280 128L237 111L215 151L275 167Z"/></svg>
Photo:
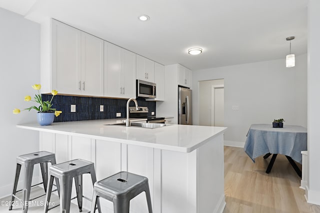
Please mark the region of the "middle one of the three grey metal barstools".
<svg viewBox="0 0 320 213"><path fill-rule="evenodd" d="M48 203L51 197L51 189L53 178L58 178L60 181L60 212L70 212L70 202L77 198L79 212L82 212L82 198L88 199L82 195L82 175L89 173L91 175L92 186L96 182L94 164L89 161L76 159L67 161L61 164L53 165L49 168L48 186L45 196L44 212L48 212ZM74 178L76 197L71 199L72 179ZM100 211L100 204L97 203L98 212Z"/></svg>

